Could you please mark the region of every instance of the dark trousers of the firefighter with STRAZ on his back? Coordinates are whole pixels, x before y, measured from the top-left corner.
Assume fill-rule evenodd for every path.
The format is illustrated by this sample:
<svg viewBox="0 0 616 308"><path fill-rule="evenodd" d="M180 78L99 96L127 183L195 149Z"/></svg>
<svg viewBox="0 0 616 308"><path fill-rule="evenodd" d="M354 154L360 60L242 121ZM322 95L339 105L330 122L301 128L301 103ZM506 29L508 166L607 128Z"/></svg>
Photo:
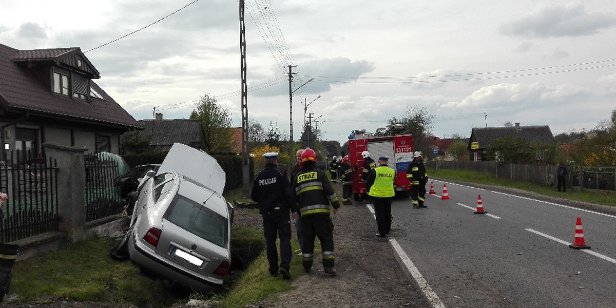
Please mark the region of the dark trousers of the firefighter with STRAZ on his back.
<svg viewBox="0 0 616 308"><path fill-rule="evenodd" d="M302 216L304 246L302 246L302 265L310 270L314 259L314 240L321 242L323 267L334 267L334 224L329 214Z"/></svg>

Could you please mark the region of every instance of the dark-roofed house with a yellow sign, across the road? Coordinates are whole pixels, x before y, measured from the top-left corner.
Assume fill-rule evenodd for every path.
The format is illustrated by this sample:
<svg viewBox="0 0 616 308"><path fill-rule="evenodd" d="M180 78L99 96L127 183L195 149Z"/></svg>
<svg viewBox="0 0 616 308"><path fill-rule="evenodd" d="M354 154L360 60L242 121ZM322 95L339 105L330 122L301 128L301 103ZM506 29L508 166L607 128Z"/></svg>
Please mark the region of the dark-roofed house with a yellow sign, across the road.
<svg viewBox="0 0 616 308"><path fill-rule="evenodd" d="M554 144L554 135L548 125L520 126L520 123L516 122L515 126L473 128L468 140L471 161L488 160L485 150L493 141L506 137L521 137L529 144Z"/></svg>

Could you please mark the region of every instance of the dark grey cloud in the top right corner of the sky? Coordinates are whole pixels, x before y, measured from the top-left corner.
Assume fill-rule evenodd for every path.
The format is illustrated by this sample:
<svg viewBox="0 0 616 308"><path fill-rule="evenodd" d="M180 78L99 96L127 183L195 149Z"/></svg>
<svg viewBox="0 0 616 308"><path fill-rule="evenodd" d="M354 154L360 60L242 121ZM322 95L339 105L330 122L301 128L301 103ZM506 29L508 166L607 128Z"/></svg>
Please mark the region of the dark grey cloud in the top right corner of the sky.
<svg viewBox="0 0 616 308"><path fill-rule="evenodd" d="M500 33L524 38L557 38L585 36L598 33L616 24L612 13L588 13L583 4L573 6L546 6L535 9L530 15L504 22Z"/></svg>

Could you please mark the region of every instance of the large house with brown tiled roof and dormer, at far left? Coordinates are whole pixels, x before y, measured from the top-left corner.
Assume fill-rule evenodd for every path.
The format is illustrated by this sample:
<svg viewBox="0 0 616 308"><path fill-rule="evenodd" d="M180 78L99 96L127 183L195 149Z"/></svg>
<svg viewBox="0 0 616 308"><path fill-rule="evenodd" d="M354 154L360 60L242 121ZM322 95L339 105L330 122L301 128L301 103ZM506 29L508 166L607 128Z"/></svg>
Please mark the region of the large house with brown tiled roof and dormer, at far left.
<svg viewBox="0 0 616 308"><path fill-rule="evenodd" d="M120 135L139 123L93 79L79 47L18 50L0 44L2 160L40 155L42 144L120 152Z"/></svg>

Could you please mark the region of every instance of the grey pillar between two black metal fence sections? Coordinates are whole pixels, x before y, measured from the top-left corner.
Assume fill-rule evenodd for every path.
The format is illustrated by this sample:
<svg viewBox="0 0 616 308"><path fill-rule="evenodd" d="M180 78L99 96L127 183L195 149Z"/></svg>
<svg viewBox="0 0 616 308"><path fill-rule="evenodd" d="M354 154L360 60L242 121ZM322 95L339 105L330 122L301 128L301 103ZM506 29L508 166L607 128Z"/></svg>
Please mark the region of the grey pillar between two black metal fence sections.
<svg viewBox="0 0 616 308"><path fill-rule="evenodd" d="M86 148L43 144L58 163L58 227L73 241L86 238Z"/></svg>

